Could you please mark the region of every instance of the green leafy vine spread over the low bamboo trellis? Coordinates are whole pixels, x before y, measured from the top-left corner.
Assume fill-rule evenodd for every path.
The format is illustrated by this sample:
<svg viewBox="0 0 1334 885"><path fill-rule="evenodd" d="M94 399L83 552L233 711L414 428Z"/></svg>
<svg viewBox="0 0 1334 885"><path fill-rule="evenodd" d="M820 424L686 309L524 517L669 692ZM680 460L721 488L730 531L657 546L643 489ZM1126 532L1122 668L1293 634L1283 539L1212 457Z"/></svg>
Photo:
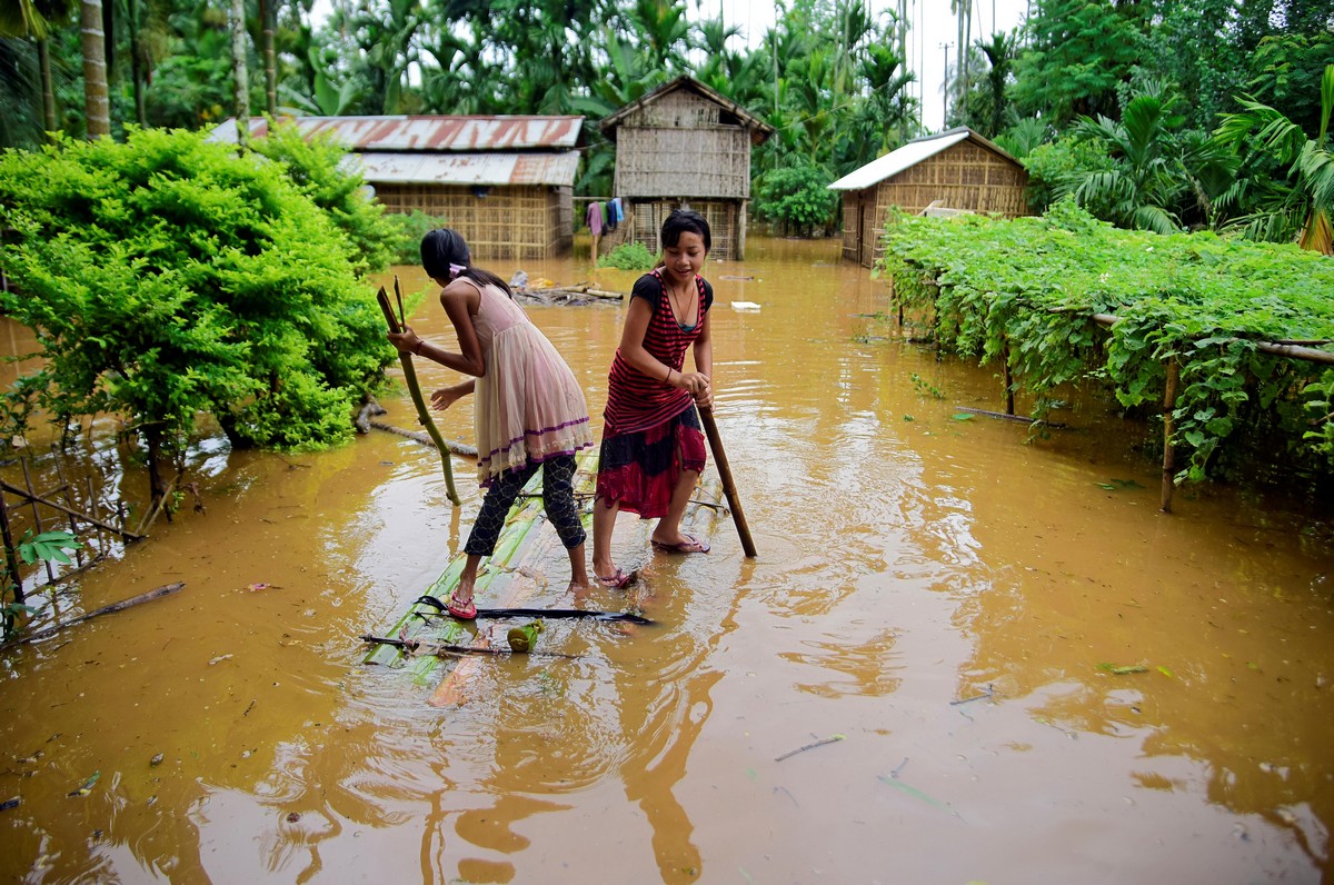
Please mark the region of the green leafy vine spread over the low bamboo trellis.
<svg viewBox="0 0 1334 885"><path fill-rule="evenodd" d="M1261 347L1334 340L1334 262L1209 232L1125 231L1069 200L1013 222L899 218L883 242L880 270L904 307L934 319L943 347L1005 355L1034 418L1067 384L1157 415L1175 362L1179 481L1205 479L1229 447L1334 473L1334 368Z"/></svg>

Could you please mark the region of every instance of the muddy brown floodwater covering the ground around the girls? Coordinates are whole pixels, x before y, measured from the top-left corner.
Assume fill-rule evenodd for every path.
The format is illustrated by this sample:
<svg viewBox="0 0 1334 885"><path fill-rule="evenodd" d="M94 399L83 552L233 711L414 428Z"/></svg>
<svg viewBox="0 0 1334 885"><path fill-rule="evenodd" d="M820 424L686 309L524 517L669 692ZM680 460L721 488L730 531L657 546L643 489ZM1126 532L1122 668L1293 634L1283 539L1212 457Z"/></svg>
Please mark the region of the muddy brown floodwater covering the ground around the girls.
<svg viewBox="0 0 1334 885"><path fill-rule="evenodd" d="M522 270L590 279L583 254ZM0 659L0 876L1331 881L1327 502L1209 486L1163 515L1110 404L1075 398L1031 440L960 411L1003 407L994 368L876 319L886 287L838 243L758 239L707 275L756 559L728 519L708 555L670 557L622 517L640 585L574 601L548 547L532 605L659 625L551 622L538 647L579 657L478 661L435 707L360 635L462 547L472 463L454 459L452 509L434 450L390 432L300 455L205 440L207 510L41 593L39 619L185 589ZM600 431L624 307L527 310ZM411 322L455 347L434 296ZM406 392L383 404L416 427ZM468 402L438 423L472 440Z"/></svg>

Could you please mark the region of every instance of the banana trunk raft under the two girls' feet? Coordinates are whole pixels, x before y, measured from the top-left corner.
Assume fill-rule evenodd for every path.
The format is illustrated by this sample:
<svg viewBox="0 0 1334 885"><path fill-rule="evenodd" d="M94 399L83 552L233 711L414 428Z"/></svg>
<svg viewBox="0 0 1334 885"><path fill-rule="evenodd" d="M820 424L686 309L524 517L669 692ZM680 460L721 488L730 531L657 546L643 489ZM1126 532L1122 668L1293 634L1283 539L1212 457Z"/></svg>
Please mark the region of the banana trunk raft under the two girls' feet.
<svg viewBox="0 0 1334 885"><path fill-rule="evenodd" d="M596 481L598 453L586 450L579 455L574 487L575 499L582 509L580 518L590 533L590 543ZM696 535L711 535L719 519L728 515L722 498L722 483L715 475L706 473L691 495L682 526ZM491 622L503 625L504 629L532 618L591 618L651 623L634 613L574 611L534 603L539 595L554 595L552 587L534 565L550 561L551 554L559 550L560 539L542 507L542 471L538 471L510 509L495 553L483 562L478 573L474 597L478 601L479 619L463 622L442 610L443 602L458 586L459 574L467 559L467 555L459 551L450 559L440 577L426 587L424 593L416 595L398 621L378 635L363 637L371 643L363 662L407 670L419 685L439 681L430 703L450 706L463 699L464 682L478 666L484 666L483 659L491 657L490 653L510 651L504 641L498 649L491 646L488 629ZM566 567L563 561L560 567ZM563 595L564 581L556 582L555 589ZM507 623L507 618L512 621ZM556 651L554 649L550 654Z"/></svg>

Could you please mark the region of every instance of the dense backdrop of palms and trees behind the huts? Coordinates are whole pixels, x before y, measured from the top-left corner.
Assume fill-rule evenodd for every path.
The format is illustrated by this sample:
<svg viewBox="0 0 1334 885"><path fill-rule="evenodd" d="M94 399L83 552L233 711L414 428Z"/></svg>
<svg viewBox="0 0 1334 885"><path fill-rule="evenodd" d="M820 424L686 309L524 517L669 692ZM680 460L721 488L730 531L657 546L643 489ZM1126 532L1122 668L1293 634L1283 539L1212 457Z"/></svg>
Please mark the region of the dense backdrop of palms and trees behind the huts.
<svg viewBox="0 0 1334 885"><path fill-rule="evenodd" d="M252 112L590 123L688 72L776 127L756 155L756 212L783 231L831 232L836 200L823 187L922 135L902 1L880 12L867 0L778 3L775 27L746 35L754 47L684 0L335 0L320 20L309 0L97 5L7 4L0 144L33 147L45 129L205 127L237 113L243 71ZM1034 0L1021 29L991 35L974 32L972 7L950 4L967 52L951 53L947 125L1030 163L1035 210L1070 194L1123 226L1301 232L1301 175L1263 127L1214 131L1221 115L1262 105L1323 140L1334 0ZM89 56L105 61L100 101ZM596 125L586 132L579 192L607 195L614 148Z"/></svg>

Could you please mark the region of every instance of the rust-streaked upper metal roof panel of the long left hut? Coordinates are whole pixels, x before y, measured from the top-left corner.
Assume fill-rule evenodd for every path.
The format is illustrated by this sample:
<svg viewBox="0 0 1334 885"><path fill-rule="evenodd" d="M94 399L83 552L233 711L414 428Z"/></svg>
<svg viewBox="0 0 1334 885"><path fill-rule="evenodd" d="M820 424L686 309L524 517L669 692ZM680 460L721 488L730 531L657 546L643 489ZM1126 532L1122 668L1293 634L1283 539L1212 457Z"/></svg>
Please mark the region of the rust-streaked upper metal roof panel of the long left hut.
<svg viewBox="0 0 1334 885"><path fill-rule="evenodd" d="M329 133L352 151L524 151L572 148L579 141L582 116L299 116L307 137ZM268 133L263 117L251 119L251 135ZM236 141L236 120L217 125L209 137Z"/></svg>

